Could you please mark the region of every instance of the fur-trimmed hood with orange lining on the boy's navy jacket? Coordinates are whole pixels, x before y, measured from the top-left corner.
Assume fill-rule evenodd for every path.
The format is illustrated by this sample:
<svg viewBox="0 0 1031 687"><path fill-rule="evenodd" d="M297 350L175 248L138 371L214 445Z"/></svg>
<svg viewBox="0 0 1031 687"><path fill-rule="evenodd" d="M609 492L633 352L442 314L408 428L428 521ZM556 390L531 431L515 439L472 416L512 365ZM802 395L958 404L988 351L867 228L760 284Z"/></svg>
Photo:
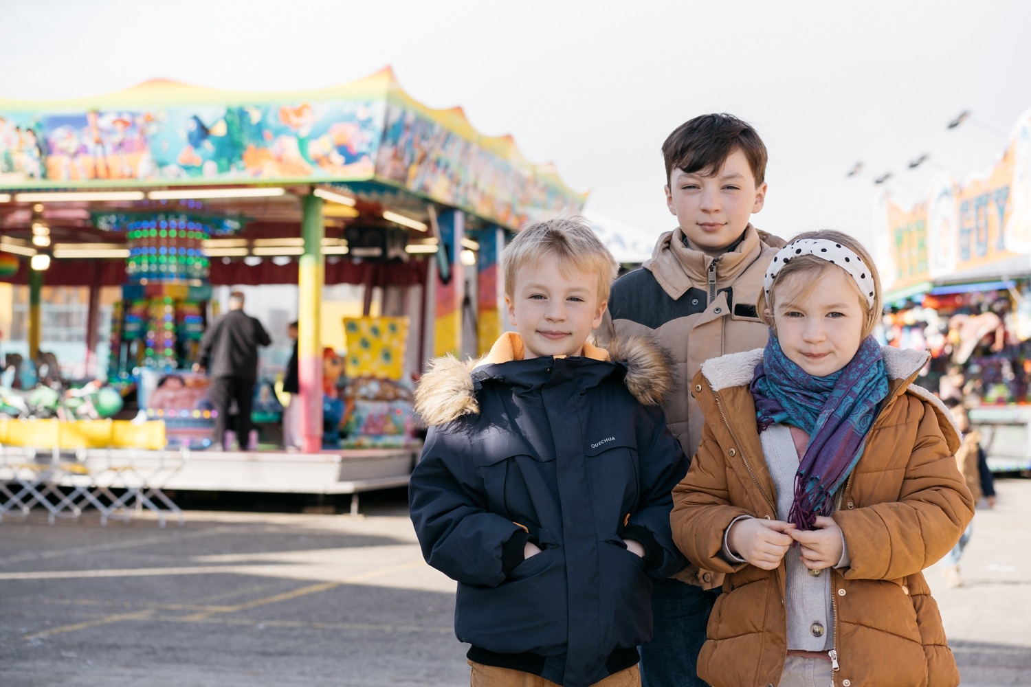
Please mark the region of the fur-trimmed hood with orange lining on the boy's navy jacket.
<svg viewBox="0 0 1031 687"><path fill-rule="evenodd" d="M607 350L585 344L584 357L609 362L612 371L624 371L624 383L638 402L661 406L673 390L675 374L669 352L647 337L613 339ZM514 354L518 353L518 354ZM459 360L454 355L434 358L415 387L415 412L429 425L443 424L463 415L478 414L476 391L504 363L522 357L519 335L508 332L491 352L479 358Z"/></svg>

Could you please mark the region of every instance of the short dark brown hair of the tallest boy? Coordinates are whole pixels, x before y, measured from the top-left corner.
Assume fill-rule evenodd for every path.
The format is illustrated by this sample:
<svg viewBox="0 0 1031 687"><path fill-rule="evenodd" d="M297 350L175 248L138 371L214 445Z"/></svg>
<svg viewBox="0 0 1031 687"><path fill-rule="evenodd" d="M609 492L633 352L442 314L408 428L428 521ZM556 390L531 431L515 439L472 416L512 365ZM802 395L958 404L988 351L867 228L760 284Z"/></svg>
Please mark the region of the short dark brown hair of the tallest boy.
<svg viewBox="0 0 1031 687"><path fill-rule="evenodd" d="M734 150L744 153L759 186L766 178L766 145L746 122L733 114L701 114L673 130L662 144L666 183L674 169L714 174Z"/></svg>

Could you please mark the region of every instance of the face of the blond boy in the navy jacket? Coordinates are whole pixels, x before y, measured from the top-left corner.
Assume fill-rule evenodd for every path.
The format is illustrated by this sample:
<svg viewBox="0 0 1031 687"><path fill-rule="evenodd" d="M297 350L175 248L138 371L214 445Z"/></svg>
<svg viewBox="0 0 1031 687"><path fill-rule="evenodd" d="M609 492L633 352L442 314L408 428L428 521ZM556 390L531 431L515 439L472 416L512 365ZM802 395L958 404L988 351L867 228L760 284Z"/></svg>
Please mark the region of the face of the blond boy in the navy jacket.
<svg viewBox="0 0 1031 687"><path fill-rule="evenodd" d="M505 295L508 321L523 339L524 358L580 355L591 331L601 324L607 302L598 302L598 276L579 272L557 255L516 272Z"/></svg>

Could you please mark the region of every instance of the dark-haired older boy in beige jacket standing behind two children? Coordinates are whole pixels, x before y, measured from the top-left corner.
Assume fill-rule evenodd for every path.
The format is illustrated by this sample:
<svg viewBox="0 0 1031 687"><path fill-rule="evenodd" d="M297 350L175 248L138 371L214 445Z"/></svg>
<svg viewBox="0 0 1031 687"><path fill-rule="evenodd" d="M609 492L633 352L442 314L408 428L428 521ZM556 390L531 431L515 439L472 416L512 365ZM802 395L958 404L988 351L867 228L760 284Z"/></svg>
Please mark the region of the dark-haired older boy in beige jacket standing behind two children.
<svg viewBox="0 0 1031 687"><path fill-rule="evenodd" d="M684 452L701 441L702 415L688 383L701 364L766 344L756 313L763 273L784 241L756 230L751 215L766 200L766 146L730 114L703 114L662 145L666 206L677 227L659 237L641 269L612 284L599 341L655 336L676 364L666 422ZM685 584L687 582L688 584ZM641 647L645 687L703 687L695 673L722 576L690 566L656 585L655 638Z"/></svg>

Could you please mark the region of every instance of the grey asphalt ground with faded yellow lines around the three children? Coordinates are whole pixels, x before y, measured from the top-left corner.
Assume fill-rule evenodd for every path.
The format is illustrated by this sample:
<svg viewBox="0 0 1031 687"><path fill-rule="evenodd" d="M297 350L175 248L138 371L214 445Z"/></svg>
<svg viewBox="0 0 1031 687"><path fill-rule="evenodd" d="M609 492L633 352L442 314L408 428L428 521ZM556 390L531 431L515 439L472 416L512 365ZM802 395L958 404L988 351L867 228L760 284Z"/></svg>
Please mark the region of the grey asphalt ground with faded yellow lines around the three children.
<svg viewBox="0 0 1031 687"><path fill-rule="evenodd" d="M1031 479L997 488L964 586L928 571L971 687L1031 685ZM403 490L363 495L359 517L261 499L164 529L146 514L5 517L0 686L468 685L455 584L423 562Z"/></svg>

